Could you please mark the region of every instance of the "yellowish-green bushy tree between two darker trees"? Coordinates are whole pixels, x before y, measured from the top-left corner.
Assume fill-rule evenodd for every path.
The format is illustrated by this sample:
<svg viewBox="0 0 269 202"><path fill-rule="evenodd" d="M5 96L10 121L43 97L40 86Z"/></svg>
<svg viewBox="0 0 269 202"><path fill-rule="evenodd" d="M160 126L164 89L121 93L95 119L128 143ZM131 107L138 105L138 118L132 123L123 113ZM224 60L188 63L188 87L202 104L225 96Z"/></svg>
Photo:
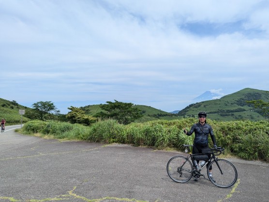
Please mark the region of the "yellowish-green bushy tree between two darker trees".
<svg viewBox="0 0 269 202"><path fill-rule="evenodd" d="M71 112L67 113L66 118L68 121L70 121L70 123L79 123L90 126L91 123L96 122L95 117L86 115L82 109L73 106L69 107L68 109L71 110Z"/></svg>

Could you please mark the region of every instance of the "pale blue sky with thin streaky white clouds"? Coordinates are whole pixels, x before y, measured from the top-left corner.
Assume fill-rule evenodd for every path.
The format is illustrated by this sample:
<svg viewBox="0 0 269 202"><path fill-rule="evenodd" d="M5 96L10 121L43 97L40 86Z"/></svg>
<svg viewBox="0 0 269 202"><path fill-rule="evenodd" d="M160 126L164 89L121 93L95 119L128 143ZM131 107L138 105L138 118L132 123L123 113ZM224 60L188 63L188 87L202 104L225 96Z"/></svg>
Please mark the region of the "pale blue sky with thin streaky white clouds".
<svg viewBox="0 0 269 202"><path fill-rule="evenodd" d="M0 0L0 98L172 112L269 90L269 0Z"/></svg>

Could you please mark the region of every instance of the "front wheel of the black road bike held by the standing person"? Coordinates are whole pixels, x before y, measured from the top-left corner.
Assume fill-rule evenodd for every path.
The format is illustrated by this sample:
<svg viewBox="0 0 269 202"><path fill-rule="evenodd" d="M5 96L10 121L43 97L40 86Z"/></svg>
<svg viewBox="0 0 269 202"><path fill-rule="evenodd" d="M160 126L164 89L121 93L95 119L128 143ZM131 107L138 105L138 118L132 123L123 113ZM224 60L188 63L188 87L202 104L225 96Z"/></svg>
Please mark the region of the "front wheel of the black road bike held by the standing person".
<svg viewBox="0 0 269 202"><path fill-rule="evenodd" d="M235 166L228 160L225 159L218 159L218 164L220 165L220 168L223 172L221 173L218 165L216 164L216 161L213 160L211 163L209 163L208 166L208 177L209 177L209 168L212 166L212 176L215 180L215 182L209 177L209 180L217 187L220 188L229 188L233 186L238 178L238 173L235 168Z"/></svg>

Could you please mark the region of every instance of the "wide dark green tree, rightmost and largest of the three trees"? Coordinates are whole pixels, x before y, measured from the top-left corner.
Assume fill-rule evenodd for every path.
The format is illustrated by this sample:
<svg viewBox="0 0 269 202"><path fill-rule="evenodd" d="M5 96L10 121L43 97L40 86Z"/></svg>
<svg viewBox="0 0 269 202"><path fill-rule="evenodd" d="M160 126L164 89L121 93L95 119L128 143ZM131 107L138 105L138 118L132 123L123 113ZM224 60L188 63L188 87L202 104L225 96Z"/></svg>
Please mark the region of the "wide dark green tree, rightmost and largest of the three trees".
<svg viewBox="0 0 269 202"><path fill-rule="evenodd" d="M120 124L127 125L133 122L135 119L142 117L140 114L141 110L133 107L133 103L126 103L116 101L106 101L107 104L102 104L101 109L105 110L106 113L100 112L98 115L103 117L111 117L116 119Z"/></svg>

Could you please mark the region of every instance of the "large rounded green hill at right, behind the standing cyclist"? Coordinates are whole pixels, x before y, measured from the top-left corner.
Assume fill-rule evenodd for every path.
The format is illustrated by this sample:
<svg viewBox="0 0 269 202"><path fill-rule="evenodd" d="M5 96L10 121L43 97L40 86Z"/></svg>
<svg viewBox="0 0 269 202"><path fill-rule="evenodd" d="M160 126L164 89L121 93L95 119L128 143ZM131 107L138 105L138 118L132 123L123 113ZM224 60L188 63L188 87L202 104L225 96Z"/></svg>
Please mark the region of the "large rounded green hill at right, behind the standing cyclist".
<svg viewBox="0 0 269 202"><path fill-rule="evenodd" d="M219 100L210 100L191 104L179 112L180 116L195 116L199 111L208 113L213 120L265 120L252 104L246 101L269 101L269 92L253 88L244 88L238 92L226 95Z"/></svg>

